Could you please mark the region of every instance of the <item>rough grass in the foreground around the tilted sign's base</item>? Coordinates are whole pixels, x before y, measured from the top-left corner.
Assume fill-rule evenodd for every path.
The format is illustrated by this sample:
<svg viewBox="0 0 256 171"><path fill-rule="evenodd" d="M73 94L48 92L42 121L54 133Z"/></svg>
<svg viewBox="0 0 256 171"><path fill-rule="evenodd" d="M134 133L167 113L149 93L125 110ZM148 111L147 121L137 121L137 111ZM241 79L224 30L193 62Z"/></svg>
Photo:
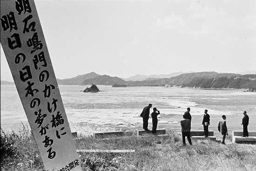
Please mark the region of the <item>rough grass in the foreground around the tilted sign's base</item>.
<svg viewBox="0 0 256 171"><path fill-rule="evenodd" d="M183 146L181 137L136 137L75 141L77 149L135 150L135 153L79 152L83 171L256 171L256 145L221 145L205 140ZM1 132L1 167L5 171L43 171L33 136L25 128L19 133Z"/></svg>

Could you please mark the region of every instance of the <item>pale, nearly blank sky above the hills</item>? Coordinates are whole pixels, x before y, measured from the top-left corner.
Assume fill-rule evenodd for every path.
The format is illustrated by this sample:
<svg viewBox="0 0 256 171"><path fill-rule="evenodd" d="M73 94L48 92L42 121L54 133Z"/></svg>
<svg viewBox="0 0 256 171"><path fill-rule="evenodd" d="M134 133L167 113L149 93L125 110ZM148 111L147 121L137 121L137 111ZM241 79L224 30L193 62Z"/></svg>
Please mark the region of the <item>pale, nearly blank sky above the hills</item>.
<svg viewBox="0 0 256 171"><path fill-rule="evenodd" d="M57 78L256 66L255 0L37 0ZM1 48L1 80L13 81Z"/></svg>

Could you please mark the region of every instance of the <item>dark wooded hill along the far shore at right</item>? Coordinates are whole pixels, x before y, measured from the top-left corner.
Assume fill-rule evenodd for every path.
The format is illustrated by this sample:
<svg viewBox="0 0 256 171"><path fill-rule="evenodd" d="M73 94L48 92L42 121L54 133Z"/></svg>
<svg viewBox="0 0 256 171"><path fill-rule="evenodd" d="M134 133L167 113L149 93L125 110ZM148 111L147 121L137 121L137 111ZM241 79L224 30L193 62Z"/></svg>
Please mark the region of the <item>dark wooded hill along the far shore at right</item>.
<svg viewBox="0 0 256 171"><path fill-rule="evenodd" d="M256 74L240 75L234 73L194 72L185 73L169 79L130 81L129 86L185 86L196 88L256 88Z"/></svg>

